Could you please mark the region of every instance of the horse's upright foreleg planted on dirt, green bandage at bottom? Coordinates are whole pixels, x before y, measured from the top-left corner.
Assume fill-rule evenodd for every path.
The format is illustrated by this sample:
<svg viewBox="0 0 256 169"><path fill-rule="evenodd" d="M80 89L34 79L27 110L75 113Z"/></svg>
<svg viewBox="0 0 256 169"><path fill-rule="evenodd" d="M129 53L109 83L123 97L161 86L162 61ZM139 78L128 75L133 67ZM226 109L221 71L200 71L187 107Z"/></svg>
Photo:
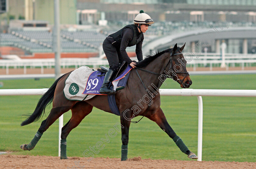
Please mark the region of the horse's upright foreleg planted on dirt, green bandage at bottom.
<svg viewBox="0 0 256 169"><path fill-rule="evenodd" d="M127 160L128 154L128 140L129 140L129 127L131 123L132 112L122 112L120 115L121 131L122 131L122 148L121 148L121 161Z"/></svg>

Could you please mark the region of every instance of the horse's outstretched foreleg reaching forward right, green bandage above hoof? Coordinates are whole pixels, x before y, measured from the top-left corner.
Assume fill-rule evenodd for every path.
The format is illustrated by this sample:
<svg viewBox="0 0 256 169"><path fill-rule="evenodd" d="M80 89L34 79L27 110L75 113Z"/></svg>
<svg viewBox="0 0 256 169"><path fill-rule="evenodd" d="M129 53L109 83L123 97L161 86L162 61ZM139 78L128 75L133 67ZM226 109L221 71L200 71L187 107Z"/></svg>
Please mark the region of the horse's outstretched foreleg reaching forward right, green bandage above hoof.
<svg viewBox="0 0 256 169"><path fill-rule="evenodd" d="M192 153L187 146L183 143L183 141L181 140L181 138L179 136L177 136L177 134L173 131L172 127L169 125L169 123L167 122L165 115L162 111L161 108L159 108L157 110L156 113L154 113L153 115L149 115L146 116L148 117L150 120L155 121L158 126L165 131L165 133L167 133L169 135L169 137L171 137L173 139L173 141L176 143L176 145L180 148L180 150L187 154L189 158L192 159L197 159L197 156Z"/></svg>

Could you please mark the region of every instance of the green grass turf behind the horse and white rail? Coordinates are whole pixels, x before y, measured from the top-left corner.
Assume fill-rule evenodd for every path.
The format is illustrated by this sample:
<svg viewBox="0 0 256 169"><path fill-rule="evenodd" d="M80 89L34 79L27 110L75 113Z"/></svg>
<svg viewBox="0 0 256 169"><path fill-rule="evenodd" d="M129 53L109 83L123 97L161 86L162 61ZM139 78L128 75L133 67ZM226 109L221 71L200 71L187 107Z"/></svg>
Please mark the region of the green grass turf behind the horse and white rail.
<svg viewBox="0 0 256 169"><path fill-rule="evenodd" d="M256 75L190 76L193 89L244 89L255 90ZM30 89L51 86L54 79L2 80L1 89ZM171 79L162 88L179 89ZM41 121L20 127L21 114L32 113L40 96L0 96L0 151L12 154L58 155L58 120L47 131L34 150L19 147L28 144L37 132ZM203 97L203 155L205 161L256 162L256 98L254 97ZM162 96L161 107L173 130L187 147L197 154L198 104L196 97ZM50 110L50 107L47 111ZM71 113L64 114L64 124ZM45 119L45 117L43 117ZM135 120L139 120L137 117ZM67 155L83 157L83 152L105 138L114 129L119 117L93 109L67 137ZM121 133L109 137L104 149L94 157L121 156ZM151 159L189 160L156 123L143 118L131 124L128 158L140 156ZM97 150L97 148L94 148Z"/></svg>

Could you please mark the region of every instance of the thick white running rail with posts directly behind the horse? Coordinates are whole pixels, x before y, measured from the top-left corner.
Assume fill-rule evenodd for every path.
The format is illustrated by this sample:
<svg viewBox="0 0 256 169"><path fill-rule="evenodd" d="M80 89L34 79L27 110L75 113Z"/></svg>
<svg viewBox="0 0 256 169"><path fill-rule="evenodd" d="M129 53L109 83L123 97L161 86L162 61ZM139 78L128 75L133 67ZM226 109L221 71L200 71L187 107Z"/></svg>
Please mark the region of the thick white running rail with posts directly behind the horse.
<svg viewBox="0 0 256 169"><path fill-rule="evenodd" d="M48 89L1 89L0 96L7 95L43 95ZM162 96L197 96L198 100L198 140L197 161L202 161L203 138L203 100L202 96L240 96L256 97L256 90L215 90L215 89L160 89ZM60 136L63 127L63 115L59 117L59 156Z"/></svg>

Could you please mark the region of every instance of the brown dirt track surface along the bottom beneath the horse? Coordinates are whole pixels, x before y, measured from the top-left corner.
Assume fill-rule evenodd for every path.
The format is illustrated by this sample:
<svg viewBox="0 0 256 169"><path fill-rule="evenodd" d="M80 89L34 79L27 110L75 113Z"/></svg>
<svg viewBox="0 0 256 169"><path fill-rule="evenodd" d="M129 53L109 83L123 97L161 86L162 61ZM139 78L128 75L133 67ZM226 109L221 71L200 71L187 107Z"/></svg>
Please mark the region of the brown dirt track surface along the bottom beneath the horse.
<svg viewBox="0 0 256 169"><path fill-rule="evenodd" d="M0 168L211 168L211 169L255 169L256 163L252 162L224 162L224 161L178 161L178 160L151 160L134 157L127 161L120 158L90 158L69 157L68 160L60 160L52 156L29 155L0 155Z"/></svg>

